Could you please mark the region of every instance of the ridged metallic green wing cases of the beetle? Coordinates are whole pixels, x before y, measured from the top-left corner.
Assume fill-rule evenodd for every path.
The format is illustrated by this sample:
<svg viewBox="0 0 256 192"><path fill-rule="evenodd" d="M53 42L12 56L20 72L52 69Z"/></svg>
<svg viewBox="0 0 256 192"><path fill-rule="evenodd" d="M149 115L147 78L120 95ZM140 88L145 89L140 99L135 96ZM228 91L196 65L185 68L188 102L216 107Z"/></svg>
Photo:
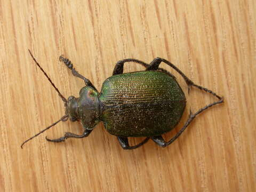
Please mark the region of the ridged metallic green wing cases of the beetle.
<svg viewBox="0 0 256 192"><path fill-rule="evenodd" d="M123 137L169 132L183 114L186 98L174 78L159 71L111 76L102 85L101 120L107 131Z"/></svg>

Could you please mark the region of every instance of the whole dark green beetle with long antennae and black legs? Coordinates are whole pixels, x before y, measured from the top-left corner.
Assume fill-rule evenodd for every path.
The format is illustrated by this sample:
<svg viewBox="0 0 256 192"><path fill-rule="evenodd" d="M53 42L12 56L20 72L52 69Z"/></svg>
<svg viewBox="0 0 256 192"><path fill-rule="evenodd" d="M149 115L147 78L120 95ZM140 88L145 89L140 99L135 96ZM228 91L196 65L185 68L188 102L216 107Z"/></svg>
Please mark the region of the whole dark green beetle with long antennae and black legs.
<svg viewBox="0 0 256 192"><path fill-rule="evenodd" d="M163 58L155 58L149 64L137 59L124 59L115 65L113 74L102 84L98 92L91 81L79 74L73 63L63 55L59 60L72 71L72 74L83 79L85 86L80 90L79 97L66 99L52 83L51 79L33 54L28 50L36 65L43 71L54 89L59 93L65 103L65 115L59 121L46 127L21 145L37 137L37 135L50 129L60 121L80 121L83 126L82 134L66 132L63 137L49 139L51 142L62 142L68 138L85 138L99 122L103 122L106 130L117 137L123 149L135 149L145 144L149 139L157 145L166 147L177 139L193 119L209 107L223 102L223 98L191 81L180 69ZM135 62L146 67L145 71L123 73L124 63ZM183 127L169 141L165 141L162 134L171 131L180 121L186 107L186 97L176 78L167 70L159 68L161 62L176 70L188 85L188 92L194 86L207 93L211 93L218 101L199 109L196 113L190 110L189 117ZM138 145L130 146L128 137L146 137Z"/></svg>

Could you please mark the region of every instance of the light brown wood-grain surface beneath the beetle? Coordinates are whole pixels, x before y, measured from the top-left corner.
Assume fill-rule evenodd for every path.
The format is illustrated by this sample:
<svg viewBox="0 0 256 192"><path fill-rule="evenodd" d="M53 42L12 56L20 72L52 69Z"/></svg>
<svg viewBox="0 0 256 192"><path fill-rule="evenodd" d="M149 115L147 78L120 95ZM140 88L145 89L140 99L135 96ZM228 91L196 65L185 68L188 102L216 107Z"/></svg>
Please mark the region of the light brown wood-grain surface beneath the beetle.
<svg viewBox="0 0 256 192"><path fill-rule="evenodd" d="M0 0L1 191L256 191L255 4ZM199 115L164 149L149 141L123 150L101 123L85 139L45 141L46 135L81 133L70 121L21 149L24 140L65 113L28 49L65 97L78 96L84 84L59 62L61 54L99 90L116 61L163 57L223 95L225 103ZM142 69L125 66L126 72ZM193 89L182 122L164 138L180 129L190 107L196 111L214 100Z"/></svg>

